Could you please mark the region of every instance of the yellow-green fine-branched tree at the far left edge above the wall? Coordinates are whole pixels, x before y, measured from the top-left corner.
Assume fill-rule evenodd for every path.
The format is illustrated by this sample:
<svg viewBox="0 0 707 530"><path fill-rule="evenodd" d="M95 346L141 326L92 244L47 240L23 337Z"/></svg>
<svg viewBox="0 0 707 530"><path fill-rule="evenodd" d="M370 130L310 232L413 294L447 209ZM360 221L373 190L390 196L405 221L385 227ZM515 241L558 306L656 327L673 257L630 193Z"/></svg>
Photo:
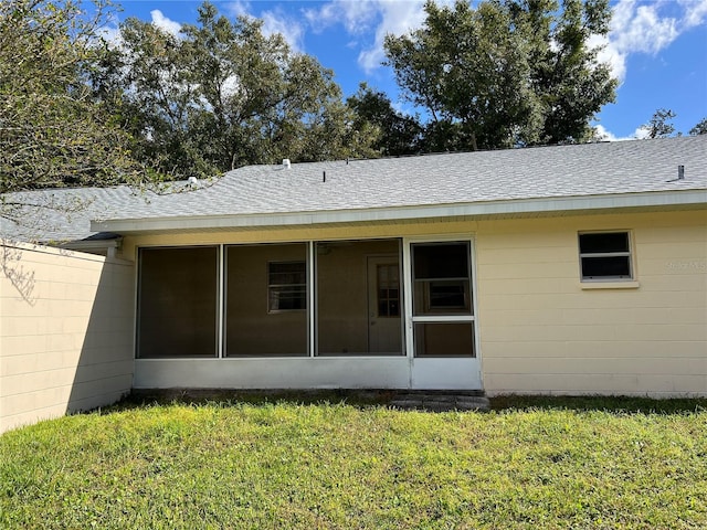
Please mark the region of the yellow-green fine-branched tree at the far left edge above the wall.
<svg viewBox="0 0 707 530"><path fill-rule="evenodd" d="M88 85L106 9L102 0L93 14L73 0L0 3L0 215L14 216L10 192L144 177L129 136Z"/></svg>

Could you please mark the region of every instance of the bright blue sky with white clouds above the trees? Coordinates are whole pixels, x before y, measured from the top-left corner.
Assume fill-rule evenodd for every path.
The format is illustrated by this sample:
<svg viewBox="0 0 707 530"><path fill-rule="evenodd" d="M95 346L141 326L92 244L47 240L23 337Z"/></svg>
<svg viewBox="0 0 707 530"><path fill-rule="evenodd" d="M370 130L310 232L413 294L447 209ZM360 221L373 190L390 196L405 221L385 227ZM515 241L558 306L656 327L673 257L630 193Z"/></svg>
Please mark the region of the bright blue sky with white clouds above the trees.
<svg viewBox="0 0 707 530"><path fill-rule="evenodd" d="M445 0L451 2L451 0ZM424 0L212 1L222 14L263 19L267 33L282 33L296 51L314 55L335 72L346 96L360 82L400 99L384 59L387 33L402 34L424 21ZM440 1L440 3L443 3ZM124 0L118 19L137 17L177 33L193 23L200 1ZM606 105L595 125L606 139L641 136L637 130L657 108L677 114L683 134L707 117L707 0L612 0L614 11L602 60L620 80L616 102ZM117 21L116 21L117 23ZM108 28L108 32L115 29Z"/></svg>

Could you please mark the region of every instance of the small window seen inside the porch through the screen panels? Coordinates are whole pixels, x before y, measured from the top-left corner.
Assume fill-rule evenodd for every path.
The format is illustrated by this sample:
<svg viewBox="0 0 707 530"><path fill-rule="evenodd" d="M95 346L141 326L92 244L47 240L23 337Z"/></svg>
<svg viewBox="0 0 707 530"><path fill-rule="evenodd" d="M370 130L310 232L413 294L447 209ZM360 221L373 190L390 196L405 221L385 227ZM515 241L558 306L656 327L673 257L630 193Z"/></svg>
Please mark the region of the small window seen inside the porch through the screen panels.
<svg viewBox="0 0 707 530"><path fill-rule="evenodd" d="M307 308L305 262L267 264L267 310L292 311Z"/></svg>

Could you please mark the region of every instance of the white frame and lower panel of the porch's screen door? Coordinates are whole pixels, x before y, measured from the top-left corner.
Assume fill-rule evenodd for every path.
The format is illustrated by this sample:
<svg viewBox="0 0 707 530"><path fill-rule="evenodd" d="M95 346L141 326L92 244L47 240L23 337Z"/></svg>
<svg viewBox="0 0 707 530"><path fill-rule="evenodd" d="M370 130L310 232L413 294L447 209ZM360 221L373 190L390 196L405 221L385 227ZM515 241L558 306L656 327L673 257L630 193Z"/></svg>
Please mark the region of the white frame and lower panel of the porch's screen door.
<svg viewBox="0 0 707 530"><path fill-rule="evenodd" d="M471 274L471 304L472 315L435 315L414 316L412 282L412 245L416 243L468 243L469 274ZM483 390L481 370L481 341L478 332L478 310L476 300L476 253L474 236L471 234L437 235L424 237L403 237L402 261L403 283L405 296L404 305L404 340L405 352L410 361L410 388L411 389L437 389L437 390ZM416 322L472 322L474 327L474 357L450 358L420 358L415 357L414 325Z"/></svg>

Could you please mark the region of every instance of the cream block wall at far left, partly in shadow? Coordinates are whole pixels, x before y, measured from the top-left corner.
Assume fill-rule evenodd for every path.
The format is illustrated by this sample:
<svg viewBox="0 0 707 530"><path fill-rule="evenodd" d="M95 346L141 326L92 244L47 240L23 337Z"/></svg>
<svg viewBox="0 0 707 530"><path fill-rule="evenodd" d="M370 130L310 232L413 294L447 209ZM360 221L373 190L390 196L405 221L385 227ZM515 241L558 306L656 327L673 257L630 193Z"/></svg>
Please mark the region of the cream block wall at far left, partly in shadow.
<svg viewBox="0 0 707 530"><path fill-rule="evenodd" d="M0 252L0 432L129 392L134 264L41 246Z"/></svg>

